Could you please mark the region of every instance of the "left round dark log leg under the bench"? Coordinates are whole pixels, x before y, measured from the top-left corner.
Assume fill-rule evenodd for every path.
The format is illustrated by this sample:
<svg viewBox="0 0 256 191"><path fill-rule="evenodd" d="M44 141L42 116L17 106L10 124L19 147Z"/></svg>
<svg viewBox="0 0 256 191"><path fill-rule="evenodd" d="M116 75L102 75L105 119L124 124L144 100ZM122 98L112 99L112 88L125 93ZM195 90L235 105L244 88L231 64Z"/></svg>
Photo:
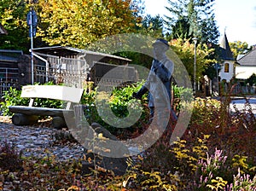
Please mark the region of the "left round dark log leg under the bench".
<svg viewBox="0 0 256 191"><path fill-rule="evenodd" d="M35 115L25 115L22 113L15 113L12 117L12 122L15 125L34 124L37 121L38 121L38 116L35 116Z"/></svg>

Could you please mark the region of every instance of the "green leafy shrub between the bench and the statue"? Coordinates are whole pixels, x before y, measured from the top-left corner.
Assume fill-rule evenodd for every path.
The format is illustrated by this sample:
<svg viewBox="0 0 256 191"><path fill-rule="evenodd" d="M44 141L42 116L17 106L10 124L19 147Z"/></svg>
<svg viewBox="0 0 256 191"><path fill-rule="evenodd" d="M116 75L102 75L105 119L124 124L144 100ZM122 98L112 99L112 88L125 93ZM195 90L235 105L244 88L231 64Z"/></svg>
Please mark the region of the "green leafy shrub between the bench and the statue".
<svg viewBox="0 0 256 191"><path fill-rule="evenodd" d="M123 134L126 132L132 132L134 130L142 128L142 124L148 121L148 107L147 107L147 95L143 96L143 99L139 101L141 106L137 106L134 103L134 98L132 97L132 93L137 92L142 86L142 83L138 84L130 84L123 88L114 88L111 92L111 95L108 92L97 90L92 90L89 93L84 93L82 98L82 104L84 104L85 109L85 118L91 124L92 122L96 122L102 124L106 129L112 132L114 135ZM97 99L97 105L96 105ZM108 122L104 121L102 117L99 115L98 110L102 109L102 113L105 112L106 104L111 108L111 112L115 115L116 119L114 119L113 124L119 124L119 120L123 120L125 117L129 115L127 107L130 106L132 109L141 109L142 115L140 120L128 128L122 128L122 130L117 129L112 124L108 124ZM108 112L108 111L107 111ZM131 111L132 112L132 111ZM104 114L104 117L108 116L108 113Z"/></svg>

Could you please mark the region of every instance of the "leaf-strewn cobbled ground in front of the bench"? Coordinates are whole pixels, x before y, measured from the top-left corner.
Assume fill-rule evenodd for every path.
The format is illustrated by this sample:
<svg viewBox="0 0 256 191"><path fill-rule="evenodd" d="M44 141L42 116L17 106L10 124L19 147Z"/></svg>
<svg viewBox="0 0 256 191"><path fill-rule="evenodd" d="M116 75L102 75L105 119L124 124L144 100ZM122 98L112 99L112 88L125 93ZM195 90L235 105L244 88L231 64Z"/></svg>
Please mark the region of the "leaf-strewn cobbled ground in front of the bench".
<svg viewBox="0 0 256 191"><path fill-rule="evenodd" d="M67 130L55 130L49 127L49 122L37 126L15 126L8 117L0 116L0 144L9 142L25 156L54 154L60 160L82 158L84 148L79 143L61 142L56 138L65 135L69 135Z"/></svg>

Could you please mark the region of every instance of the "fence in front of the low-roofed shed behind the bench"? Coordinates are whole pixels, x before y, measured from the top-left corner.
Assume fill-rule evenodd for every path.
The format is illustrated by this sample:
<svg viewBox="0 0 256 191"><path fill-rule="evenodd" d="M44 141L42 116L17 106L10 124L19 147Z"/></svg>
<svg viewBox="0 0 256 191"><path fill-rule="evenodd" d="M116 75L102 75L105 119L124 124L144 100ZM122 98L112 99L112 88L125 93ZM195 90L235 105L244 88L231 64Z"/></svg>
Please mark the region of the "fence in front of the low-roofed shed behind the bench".
<svg viewBox="0 0 256 191"><path fill-rule="evenodd" d="M91 66L85 59L66 58L54 55L38 54L38 64L35 66L35 82L44 84L53 81L55 84L67 84L83 88L88 81L95 85L113 88L114 84L125 85L125 79L135 81L134 67L117 66L94 61ZM111 78L102 78L110 70L118 68Z"/></svg>

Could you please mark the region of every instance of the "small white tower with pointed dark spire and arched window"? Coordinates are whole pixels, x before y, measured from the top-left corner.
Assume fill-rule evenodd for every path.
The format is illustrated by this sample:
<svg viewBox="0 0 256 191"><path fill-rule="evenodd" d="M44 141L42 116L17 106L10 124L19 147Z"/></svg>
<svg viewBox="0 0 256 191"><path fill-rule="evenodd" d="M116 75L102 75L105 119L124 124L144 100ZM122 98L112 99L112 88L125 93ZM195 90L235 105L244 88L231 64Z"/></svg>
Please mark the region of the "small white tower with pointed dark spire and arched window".
<svg viewBox="0 0 256 191"><path fill-rule="evenodd" d="M220 58L223 60L223 62L220 64L221 65L221 69L219 72L220 81L221 82L225 81L229 83L230 80L235 75L235 59L231 52L230 44L226 36L226 33L224 33L224 38L220 43L219 47L220 47Z"/></svg>

